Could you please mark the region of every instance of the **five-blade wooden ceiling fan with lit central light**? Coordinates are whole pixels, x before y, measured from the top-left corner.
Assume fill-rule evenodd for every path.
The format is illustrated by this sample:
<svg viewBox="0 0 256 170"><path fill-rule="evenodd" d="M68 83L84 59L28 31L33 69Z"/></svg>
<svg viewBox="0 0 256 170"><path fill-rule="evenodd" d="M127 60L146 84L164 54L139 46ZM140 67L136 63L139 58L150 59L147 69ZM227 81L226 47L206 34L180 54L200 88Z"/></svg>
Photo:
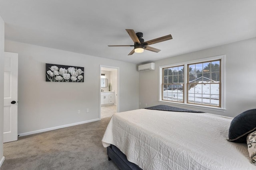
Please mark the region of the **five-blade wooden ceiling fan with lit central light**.
<svg viewBox="0 0 256 170"><path fill-rule="evenodd" d="M166 35L164 37L159 37L159 38L144 42L144 39L142 38L143 33L141 32L135 33L133 29L126 29L126 31L132 38L134 45L108 45L108 47L134 47L134 49L128 55L132 55L133 53L142 53L144 49L158 53L159 51L161 51L160 49L149 47L148 45L160 43L162 41L172 39L172 35Z"/></svg>

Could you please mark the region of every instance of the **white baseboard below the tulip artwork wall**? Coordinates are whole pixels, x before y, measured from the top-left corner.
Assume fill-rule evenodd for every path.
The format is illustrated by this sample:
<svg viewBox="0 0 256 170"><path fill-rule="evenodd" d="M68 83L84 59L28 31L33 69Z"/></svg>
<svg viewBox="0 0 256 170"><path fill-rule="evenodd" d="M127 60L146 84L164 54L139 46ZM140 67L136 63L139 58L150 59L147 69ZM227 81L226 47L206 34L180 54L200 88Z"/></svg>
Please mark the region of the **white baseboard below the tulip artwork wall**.
<svg viewBox="0 0 256 170"><path fill-rule="evenodd" d="M98 121L98 120L100 120L100 119L92 119L92 120L88 120L88 121L81 121L81 122L77 122L77 123L71 123L71 124L68 124L68 125L61 125L61 126L56 126L56 127L50 127L50 128L47 128L47 129L41 129L41 130L31 131L31 132L26 132L26 133L20 133L20 134L18 134L18 136L21 137L21 136L26 136L26 135L32 135L32 134L35 134L35 133L52 131L52 130L55 130L55 129L60 129L60 128L64 128L64 127L80 125L80 124L89 123L89 122Z"/></svg>

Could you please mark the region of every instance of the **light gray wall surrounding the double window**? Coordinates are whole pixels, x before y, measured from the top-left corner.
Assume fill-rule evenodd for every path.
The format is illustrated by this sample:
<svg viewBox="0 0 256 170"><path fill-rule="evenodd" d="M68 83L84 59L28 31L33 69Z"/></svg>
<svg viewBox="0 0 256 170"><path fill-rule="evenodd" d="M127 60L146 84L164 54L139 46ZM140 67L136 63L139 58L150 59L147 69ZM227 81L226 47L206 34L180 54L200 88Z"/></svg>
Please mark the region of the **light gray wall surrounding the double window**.
<svg viewBox="0 0 256 170"><path fill-rule="evenodd" d="M146 103L148 106L161 104L158 102L159 66L218 55L226 55L226 111L202 111L235 117L256 108L256 38L155 61L156 70L140 72L140 108Z"/></svg>

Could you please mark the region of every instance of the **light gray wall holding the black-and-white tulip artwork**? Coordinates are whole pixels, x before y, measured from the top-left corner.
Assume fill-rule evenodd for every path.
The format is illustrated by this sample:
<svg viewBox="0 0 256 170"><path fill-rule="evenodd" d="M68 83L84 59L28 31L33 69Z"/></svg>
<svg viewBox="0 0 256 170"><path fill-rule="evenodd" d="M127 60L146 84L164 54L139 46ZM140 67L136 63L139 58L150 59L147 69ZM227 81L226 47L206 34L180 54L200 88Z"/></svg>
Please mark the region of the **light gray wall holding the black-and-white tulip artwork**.
<svg viewBox="0 0 256 170"><path fill-rule="evenodd" d="M136 64L14 41L5 41L5 51L19 55L19 134L99 119L100 64L120 68L120 111L138 109ZM45 63L84 67L84 82L46 82Z"/></svg>

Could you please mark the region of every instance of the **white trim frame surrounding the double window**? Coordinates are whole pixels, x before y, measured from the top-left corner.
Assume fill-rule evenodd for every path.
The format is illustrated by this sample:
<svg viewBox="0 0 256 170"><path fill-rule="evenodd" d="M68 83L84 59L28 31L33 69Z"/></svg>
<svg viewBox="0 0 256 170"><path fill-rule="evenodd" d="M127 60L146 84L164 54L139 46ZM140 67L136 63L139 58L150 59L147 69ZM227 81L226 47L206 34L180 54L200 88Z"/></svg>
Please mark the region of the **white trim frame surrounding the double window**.
<svg viewBox="0 0 256 170"><path fill-rule="evenodd" d="M208 61L214 61L214 60L221 60L220 62L220 68L221 68L221 107L211 107L211 106L201 106L201 105L195 105L195 104L188 104L187 102L187 68L188 68L188 64L193 64L193 63L201 63L201 62L208 62ZM208 110L214 110L214 111L225 111L226 110L226 105L225 105L225 59L226 59L226 55L219 55L219 56L214 56L214 57L208 57L208 58L203 58L203 59L197 59L197 60L192 60L192 61L185 61L183 63L175 63L175 64L168 64L168 65L163 65L163 66L159 66L159 103L164 103L164 104L173 104L173 105L177 105L177 106L186 106L186 107L192 107L192 108L199 108L199 109L208 109ZM165 101L162 100L162 69L166 68L166 67L174 67L174 66L180 66L180 65L184 65L184 103L180 103L180 102L173 102L173 101Z"/></svg>

